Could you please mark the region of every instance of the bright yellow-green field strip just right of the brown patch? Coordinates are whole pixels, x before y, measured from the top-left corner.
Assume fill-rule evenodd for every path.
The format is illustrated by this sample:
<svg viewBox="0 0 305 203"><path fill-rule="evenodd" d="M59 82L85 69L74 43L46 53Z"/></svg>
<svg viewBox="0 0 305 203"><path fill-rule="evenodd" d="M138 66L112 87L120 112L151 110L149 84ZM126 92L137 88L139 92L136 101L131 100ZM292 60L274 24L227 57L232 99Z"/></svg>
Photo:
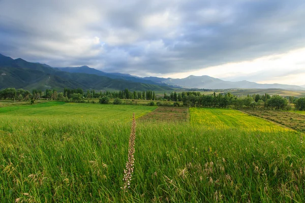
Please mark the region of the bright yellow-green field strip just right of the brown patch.
<svg viewBox="0 0 305 203"><path fill-rule="evenodd" d="M275 125L264 119L256 118L232 109L191 108L191 123L200 124L207 129L247 129L251 131L287 131L287 128Z"/></svg>

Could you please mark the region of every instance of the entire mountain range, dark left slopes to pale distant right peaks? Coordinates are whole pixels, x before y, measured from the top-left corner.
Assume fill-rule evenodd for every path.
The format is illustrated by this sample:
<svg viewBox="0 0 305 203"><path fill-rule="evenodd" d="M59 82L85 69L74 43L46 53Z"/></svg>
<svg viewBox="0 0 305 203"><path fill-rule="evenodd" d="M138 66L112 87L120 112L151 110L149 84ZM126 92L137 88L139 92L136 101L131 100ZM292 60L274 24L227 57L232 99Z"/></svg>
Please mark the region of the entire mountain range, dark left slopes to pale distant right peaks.
<svg viewBox="0 0 305 203"><path fill-rule="evenodd" d="M0 89L82 88L95 90L154 90L171 91L174 88L199 89L267 89L281 88L304 90L304 86L284 84L259 84L249 81L230 82L209 76L189 76L183 79L137 77L130 74L105 73L86 65L79 67L51 67L47 64L13 59L0 54Z"/></svg>

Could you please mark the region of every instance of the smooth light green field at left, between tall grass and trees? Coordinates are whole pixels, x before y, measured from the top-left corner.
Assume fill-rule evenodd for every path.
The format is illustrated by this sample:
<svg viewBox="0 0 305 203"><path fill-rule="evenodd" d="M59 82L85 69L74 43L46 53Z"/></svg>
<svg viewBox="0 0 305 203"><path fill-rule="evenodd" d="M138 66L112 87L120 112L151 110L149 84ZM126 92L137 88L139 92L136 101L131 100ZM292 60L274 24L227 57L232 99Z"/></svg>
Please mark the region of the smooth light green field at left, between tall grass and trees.
<svg viewBox="0 0 305 203"><path fill-rule="evenodd" d="M155 110L157 107L144 107L134 105L100 105L100 104L77 104L52 101L39 103L36 105L14 106L0 108L0 115L5 116L35 116L53 117L55 119L64 117L65 119L98 119L103 120L126 120L131 119L132 112L136 117L145 115Z"/></svg>

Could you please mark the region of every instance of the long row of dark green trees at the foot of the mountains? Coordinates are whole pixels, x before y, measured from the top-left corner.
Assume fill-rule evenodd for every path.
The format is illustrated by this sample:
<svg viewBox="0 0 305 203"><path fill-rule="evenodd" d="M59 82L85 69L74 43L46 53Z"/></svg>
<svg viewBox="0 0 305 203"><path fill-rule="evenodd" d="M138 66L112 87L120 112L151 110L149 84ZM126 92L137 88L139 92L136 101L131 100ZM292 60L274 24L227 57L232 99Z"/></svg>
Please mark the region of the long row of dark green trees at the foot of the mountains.
<svg viewBox="0 0 305 203"><path fill-rule="evenodd" d="M0 90L1 99L18 99L18 100L36 100L45 98L49 100L85 102L87 98L100 98L101 104L109 103L109 99L115 99L115 103L120 104L119 99L142 99L158 101L174 101L173 106L184 107L204 107L204 108L235 108L235 109L275 109L289 110L289 104L294 104L296 110L305 110L305 97L295 98L294 96L283 97L280 95L269 94L252 94L246 97L238 97L228 93L201 94L198 91L171 92L169 95L164 93L163 96L157 97L154 91L130 91L124 89L121 91L100 91L87 90L84 92L81 88L69 89L64 88L64 92L57 92L56 89L46 89L45 91L33 89L32 93L24 89L6 88ZM180 102L180 103L179 103ZM181 104L182 103L182 104ZM152 104L152 103L151 103ZM160 102L157 103L157 105Z"/></svg>

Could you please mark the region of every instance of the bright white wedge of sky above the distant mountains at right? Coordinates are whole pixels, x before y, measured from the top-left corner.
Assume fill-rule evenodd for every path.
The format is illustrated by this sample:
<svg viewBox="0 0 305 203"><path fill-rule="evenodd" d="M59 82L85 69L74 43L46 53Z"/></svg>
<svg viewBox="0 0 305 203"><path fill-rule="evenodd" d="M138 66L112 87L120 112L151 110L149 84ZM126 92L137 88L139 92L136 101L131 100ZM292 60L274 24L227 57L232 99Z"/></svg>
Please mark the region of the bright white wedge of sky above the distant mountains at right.
<svg viewBox="0 0 305 203"><path fill-rule="evenodd" d="M208 75L229 81L249 80L259 83L286 83L304 85L305 48L284 54L269 55L250 61L226 63L185 73L167 74L164 77L185 78L189 75ZM160 76L160 75L159 75Z"/></svg>

